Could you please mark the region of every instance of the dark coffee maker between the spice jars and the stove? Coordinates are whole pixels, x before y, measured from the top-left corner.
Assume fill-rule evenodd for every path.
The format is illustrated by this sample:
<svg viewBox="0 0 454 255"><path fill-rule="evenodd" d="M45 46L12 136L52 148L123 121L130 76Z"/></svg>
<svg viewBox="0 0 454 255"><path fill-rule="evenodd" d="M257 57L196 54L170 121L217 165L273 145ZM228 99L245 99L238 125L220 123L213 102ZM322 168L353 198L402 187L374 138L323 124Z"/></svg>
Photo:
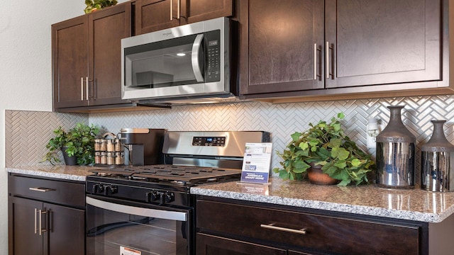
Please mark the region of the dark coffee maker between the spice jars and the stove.
<svg viewBox="0 0 454 255"><path fill-rule="evenodd" d="M162 164L165 129L122 128L118 133L125 150L125 164L143 166Z"/></svg>

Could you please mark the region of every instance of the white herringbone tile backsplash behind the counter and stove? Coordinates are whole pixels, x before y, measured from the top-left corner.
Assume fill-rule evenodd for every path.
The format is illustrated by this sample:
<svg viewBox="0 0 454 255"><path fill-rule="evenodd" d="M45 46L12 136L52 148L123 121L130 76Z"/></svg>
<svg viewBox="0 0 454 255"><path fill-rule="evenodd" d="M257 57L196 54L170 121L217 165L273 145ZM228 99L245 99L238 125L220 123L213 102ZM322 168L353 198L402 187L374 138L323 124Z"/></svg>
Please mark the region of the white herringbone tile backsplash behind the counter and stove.
<svg viewBox="0 0 454 255"><path fill-rule="evenodd" d="M416 135L416 183L419 183L419 148L432 134L430 120L448 120L445 135L454 143L454 96L416 96L407 98L371 98L350 101L270 104L262 102L223 103L174 106L172 109L125 113L92 113L89 123L117 133L121 128L166 128L192 130L263 130L272 133L273 151L282 151L290 135L304 131L309 123L330 120L345 113L346 134L366 149L366 126L369 118L378 118L384 125L389 120L387 106L404 105L402 120ZM31 121L33 120L33 121ZM87 115L6 111L6 165L33 164L42 159L45 143L60 123L75 125ZM33 126L30 125L33 123ZM50 136L47 136L50 134ZM44 148L44 149L43 149ZM369 149L375 154L375 149ZM39 157L38 157L39 156ZM279 166L279 157L272 156L272 167Z"/></svg>

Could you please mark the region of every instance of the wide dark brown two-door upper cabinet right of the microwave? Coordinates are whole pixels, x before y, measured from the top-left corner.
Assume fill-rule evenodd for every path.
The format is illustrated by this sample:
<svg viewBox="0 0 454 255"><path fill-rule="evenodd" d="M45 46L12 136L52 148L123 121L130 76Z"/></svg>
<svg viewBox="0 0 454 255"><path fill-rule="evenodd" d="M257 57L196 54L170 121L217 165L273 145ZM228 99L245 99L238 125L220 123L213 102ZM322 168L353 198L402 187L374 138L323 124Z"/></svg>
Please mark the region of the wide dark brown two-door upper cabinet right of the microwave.
<svg viewBox="0 0 454 255"><path fill-rule="evenodd" d="M453 93L444 5L240 1L240 92L272 102Z"/></svg>

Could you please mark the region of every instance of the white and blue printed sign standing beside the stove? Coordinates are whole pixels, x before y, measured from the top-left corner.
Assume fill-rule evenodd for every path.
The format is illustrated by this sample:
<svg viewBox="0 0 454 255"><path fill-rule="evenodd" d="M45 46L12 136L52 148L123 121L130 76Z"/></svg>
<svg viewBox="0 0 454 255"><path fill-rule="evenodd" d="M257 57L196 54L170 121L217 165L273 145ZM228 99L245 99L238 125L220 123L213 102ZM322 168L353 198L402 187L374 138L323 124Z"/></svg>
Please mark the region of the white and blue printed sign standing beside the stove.
<svg viewBox="0 0 454 255"><path fill-rule="evenodd" d="M241 182L268 183L272 143L246 143Z"/></svg>

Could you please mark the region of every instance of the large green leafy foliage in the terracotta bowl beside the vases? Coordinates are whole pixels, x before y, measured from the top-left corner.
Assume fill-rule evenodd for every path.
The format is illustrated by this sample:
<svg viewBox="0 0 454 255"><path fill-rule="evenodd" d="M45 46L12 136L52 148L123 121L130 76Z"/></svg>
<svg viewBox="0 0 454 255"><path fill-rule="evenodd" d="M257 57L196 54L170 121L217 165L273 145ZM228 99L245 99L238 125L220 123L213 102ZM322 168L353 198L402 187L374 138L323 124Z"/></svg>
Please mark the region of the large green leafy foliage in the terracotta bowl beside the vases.
<svg viewBox="0 0 454 255"><path fill-rule="evenodd" d="M311 166L321 166L323 174L337 180L339 186L368 183L367 175L375 171L375 162L344 135L340 121L344 117L338 113L331 123L320 120L316 125L309 123L311 128L304 132L295 132L284 152L277 152L283 159L282 167L273 171L282 179L301 180Z"/></svg>

